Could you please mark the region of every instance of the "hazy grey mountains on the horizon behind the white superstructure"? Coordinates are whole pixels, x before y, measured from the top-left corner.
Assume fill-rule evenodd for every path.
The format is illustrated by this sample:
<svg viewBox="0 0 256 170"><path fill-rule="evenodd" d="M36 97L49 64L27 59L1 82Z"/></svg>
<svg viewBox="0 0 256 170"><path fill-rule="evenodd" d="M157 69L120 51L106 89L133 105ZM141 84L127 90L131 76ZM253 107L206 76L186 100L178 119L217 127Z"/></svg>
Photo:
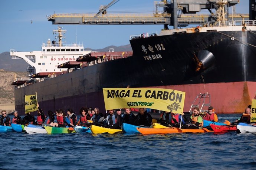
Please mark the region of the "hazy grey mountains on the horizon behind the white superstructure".
<svg viewBox="0 0 256 170"><path fill-rule="evenodd" d="M114 45L102 48L102 49L91 49L85 48L85 50L92 50L92 51L109 51L109 48L114 48L114 51L132 51L131 45L121 45L116 47ZM111 50L112 51L112 50ZM26 72L27 67L26 61L23 59L12 59L10 56L10 52L3 52L0 54L0 69L4 69L4 71L13 71L13 72Z"/></svg>

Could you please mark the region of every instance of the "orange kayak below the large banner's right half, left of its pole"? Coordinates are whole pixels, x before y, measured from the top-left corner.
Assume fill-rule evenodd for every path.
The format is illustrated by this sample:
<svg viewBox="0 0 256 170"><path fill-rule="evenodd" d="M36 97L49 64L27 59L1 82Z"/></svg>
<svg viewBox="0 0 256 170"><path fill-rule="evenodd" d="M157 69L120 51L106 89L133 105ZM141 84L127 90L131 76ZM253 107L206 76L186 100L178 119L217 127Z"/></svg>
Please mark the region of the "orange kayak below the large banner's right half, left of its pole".
<svg viewBox="0 0 256 170"><path fill-rule="evenodd" d="M141 134L179 133L177 128L137 128Z"/></svg>

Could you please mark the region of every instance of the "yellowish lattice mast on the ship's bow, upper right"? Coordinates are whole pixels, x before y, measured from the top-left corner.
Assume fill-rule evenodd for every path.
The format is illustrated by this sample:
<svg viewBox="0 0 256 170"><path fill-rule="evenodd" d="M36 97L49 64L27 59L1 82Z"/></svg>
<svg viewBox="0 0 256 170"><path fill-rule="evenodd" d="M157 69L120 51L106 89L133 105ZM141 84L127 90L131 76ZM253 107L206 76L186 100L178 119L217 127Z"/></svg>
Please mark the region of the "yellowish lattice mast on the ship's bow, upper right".
<svg viewBox="0 0 256 170"><path fill-rule="evenodd" d="M219 8L217 9L217 21L215 23L215 25L219 24L219 26L226 26L226 22L227 21L227 12L225 10L225 6L228 4L227 0L220 0L217 1L217 6L219 6Z"/></svg>

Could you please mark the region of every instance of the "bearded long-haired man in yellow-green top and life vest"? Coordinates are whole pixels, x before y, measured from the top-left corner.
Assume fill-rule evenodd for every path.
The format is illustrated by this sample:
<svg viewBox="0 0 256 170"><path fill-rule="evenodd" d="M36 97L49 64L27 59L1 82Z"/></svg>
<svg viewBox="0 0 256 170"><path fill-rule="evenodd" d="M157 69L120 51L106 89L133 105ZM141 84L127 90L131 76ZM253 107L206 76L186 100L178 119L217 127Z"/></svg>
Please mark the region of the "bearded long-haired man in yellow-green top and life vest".
<svg viewBox="0 0 256 170"><path fill-rule="evenodd" d="M188 118L191 124L185 124L181 126L181 129L199 129L203 127L203 116L200 114L198 107L193 108L192 115Z"/></svg>

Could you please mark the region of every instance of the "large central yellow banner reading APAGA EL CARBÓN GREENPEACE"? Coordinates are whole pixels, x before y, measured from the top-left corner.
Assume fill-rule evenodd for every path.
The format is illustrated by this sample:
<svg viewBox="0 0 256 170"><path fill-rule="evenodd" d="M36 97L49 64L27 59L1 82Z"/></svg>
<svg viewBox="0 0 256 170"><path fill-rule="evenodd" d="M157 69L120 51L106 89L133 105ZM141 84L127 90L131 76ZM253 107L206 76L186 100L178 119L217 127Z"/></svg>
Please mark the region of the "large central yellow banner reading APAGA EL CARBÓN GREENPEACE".
<svg viewBox="0 0 256 170"><path fill-rule="evenodd" d="M103 88L105 108L151 108L183 112L185 92L160 88Z"/></svg>

